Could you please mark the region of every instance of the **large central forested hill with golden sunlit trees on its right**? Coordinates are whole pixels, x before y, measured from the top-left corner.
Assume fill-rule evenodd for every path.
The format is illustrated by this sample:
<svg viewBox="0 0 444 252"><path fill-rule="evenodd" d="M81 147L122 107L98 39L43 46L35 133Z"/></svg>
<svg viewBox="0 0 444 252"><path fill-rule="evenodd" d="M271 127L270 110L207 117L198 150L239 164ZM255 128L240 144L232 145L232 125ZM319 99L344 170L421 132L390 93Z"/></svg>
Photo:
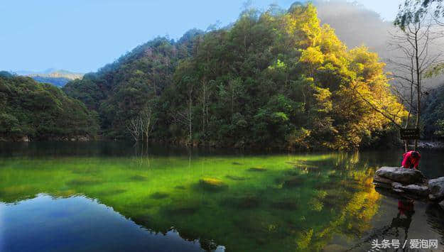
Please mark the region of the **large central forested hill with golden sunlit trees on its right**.
<svg viewBox="0 0 444 252"><path fill-rule="evenodd" d="M110 138L350 149L391 131L377 111L405 113L383 67L367 48L347 50L313 5L293 4L158 38L63 90L98 112Z"/></svg>

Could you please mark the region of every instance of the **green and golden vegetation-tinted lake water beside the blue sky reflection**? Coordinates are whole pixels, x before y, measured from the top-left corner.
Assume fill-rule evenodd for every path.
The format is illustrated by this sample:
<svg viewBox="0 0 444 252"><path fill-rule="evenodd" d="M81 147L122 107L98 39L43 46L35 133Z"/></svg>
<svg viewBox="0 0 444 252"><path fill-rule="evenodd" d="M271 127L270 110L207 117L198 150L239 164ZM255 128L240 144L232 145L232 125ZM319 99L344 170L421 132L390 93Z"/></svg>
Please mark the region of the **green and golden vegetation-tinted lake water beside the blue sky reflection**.
<svg viewBox="0 0 444 252"><path fill-rule="evenodd" d="M166 234L173 226L183 239L199 239L204 249L223 245L229 251L321 251L337 242L333 237L350 242L364 234L379 207L380 195L371 180L374 168L354 158L2 158L0 202L15 204L39 194L84 195L150 231ZM290 164L294 162L320 170L295 169ZM249 167L267 170L250 172ZM293 183L295 177L298 183ZM286 186L289 181L291 187Z"/></svg>

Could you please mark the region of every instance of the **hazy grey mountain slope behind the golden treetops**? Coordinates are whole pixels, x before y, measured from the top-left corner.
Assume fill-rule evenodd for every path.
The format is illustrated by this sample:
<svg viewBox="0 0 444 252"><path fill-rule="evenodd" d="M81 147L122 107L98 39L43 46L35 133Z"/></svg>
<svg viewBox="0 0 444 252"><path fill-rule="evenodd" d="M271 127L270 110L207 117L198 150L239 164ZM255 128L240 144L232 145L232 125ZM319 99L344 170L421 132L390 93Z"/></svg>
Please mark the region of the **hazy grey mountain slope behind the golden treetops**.
<svg viewBox="0 0 444 252"><path fill-rule="evenodd" d="M386 63L387 72L396 72L399 66L394 65L391 59L404 57L399 50L394 50L390 45L391 34L395 34L397 28L393 21L386 21L379 13L365 8L357 2L344 0L314 1L318 9L318 17L322 23L329 24L335 29L337 37L342 40L348 48L365 45L369 50L378 53L381 61ZM439 29L439 28L436 28ZM442 52L444 38L438 38L432 43L429 52ZM435 77L424 80L425 87L434 88L444 83L444 77ZM393 81L396 84L396 81Z"/></svg>

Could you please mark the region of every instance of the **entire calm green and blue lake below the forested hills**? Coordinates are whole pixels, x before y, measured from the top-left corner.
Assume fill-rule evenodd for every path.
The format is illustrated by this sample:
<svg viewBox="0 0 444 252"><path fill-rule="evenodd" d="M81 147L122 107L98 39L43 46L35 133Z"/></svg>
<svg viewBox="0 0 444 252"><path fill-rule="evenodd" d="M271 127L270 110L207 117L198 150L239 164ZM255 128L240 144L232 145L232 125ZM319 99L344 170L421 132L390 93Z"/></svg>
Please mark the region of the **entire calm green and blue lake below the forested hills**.
<svg viewBox="0 0 444 252"><path fill-rule="evenodd" d="M443 210L372 185L401 154L1 143L0 251L441 251ZM444 176L441 152L421 155Z"/></svg>

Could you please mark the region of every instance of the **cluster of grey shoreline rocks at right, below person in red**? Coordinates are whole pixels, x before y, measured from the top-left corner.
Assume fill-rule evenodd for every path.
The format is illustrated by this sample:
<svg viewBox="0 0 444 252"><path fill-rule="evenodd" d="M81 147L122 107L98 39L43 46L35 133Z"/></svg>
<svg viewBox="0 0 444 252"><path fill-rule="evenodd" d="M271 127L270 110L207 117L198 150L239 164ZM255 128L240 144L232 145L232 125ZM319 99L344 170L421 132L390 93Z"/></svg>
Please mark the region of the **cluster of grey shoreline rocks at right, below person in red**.
<svg viewBox="0 0 444 252"><path fill-rule="evenodd" d="M428 179L419 170L382 167L375 172L373 183L383 194L436 202L444 209L444 177Z"/></svg>

